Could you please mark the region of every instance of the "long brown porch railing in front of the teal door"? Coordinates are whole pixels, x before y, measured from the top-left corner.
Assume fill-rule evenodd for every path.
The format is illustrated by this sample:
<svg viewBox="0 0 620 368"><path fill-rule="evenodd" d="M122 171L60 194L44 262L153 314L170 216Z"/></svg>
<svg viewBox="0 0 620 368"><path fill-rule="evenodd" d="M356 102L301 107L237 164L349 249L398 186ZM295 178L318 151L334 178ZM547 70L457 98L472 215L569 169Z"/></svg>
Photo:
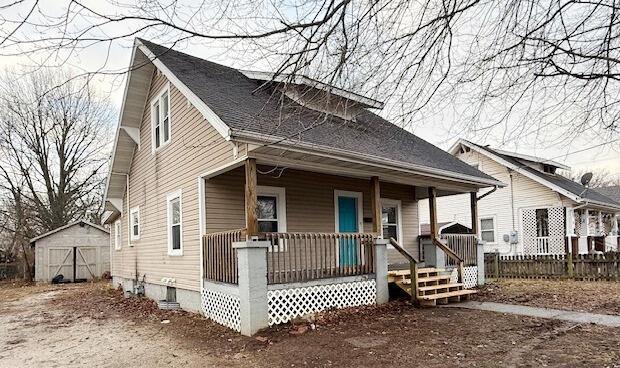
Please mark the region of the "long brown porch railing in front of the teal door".
<svg viewBox="0 0 620 368"><path fill-rule="evenodd" d="M372 274L374 234L261 233L271 243L267 282L282 284Z"/></svg>

